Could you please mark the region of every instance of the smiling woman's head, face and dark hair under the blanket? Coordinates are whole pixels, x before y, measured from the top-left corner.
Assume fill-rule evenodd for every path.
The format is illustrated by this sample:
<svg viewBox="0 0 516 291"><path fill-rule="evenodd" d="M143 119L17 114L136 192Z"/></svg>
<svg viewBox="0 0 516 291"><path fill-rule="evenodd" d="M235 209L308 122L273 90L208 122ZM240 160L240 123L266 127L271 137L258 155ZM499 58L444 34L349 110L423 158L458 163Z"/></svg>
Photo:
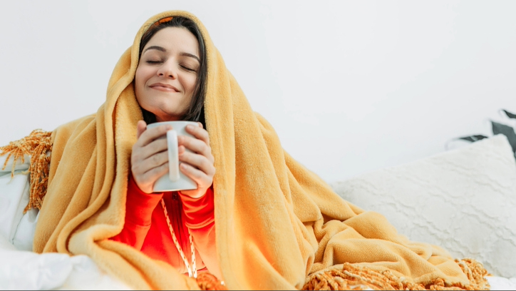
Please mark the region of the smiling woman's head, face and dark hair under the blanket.
<svg viewBox="0 0 516 291"><path fill-rule="evenodd" d="M204 40L190 19L162 20L145 33L135 93L147 123L204 118L205 63Z"/></svg>

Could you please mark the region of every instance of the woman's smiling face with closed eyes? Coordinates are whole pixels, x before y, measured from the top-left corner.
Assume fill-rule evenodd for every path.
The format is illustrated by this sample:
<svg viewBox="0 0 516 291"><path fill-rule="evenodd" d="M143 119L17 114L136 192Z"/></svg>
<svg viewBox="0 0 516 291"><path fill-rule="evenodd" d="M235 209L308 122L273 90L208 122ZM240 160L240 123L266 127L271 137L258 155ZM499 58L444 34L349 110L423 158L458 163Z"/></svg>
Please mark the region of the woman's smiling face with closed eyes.
<svg viewBox="0 0 516 291"><path fill-rule="evenodd" d="M159 121L185 116L200 70L199 43L185 28L166 27L145 45L136 68L135 93L140 106Z"/></svg>

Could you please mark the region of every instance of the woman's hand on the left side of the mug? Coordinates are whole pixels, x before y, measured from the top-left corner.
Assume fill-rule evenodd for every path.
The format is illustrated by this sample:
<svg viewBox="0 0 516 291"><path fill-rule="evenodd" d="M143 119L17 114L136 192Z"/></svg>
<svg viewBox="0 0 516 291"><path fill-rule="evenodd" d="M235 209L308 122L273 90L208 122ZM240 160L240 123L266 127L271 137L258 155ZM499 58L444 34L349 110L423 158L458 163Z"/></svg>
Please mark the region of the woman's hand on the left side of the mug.
<svg viewBox="0 0 516 291"><path fill-rule="evenodd" d="M172 126L158 126L147 130L145 121L136 125L138 141L131 153L131 171L136 185L145 193L153 193L156 180L168 172L167 139L160 138Z"/></svg>

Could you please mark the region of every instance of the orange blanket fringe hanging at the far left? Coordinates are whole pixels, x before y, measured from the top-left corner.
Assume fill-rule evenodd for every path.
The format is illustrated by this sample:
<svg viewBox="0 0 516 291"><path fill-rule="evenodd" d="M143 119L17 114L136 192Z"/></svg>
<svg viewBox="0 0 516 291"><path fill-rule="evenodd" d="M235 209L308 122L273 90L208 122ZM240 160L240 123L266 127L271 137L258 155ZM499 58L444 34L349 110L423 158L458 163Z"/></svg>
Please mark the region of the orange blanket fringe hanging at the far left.
<svg viewBox="0 0 516 291"><path fill-rule="evenodd" d="M48 172L50 170L51 134L51 132L36 129L29 136L19 141L11 141L8 146L0 147L0 155L9 154L2 170L5 170L11 155L14 155L11 177L14 177L14 170L18 160L21 159L21 163L25 163L25 155L31 156L29 170L24 172L24 174L30 173L31 185L29 204L26 206L24 213L31 208L41 209L41 205L43 205L43 198L46 195L48 185Z"/></svg>

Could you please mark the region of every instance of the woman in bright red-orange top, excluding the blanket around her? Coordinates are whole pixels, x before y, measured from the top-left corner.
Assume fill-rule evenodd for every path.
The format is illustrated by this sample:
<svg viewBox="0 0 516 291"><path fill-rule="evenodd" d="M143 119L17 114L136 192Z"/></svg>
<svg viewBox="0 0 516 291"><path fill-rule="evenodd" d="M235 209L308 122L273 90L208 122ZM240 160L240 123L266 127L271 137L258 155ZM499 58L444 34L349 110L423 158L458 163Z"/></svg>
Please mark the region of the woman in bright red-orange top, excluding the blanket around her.
<svg viewBox="0 0 516 291"><path fill-rule="evenodd" d="M168 170L167 143L158 138L170 128L146 130L155 121L204 121L205 56L197 25L185 17L161 19L143 35L134 86L145 121L138 121L138 141L131 154L124 228L112 240L191 276L197 277L199 269L221 277L211 189L215 166L207 131L199 122L200 127L186 128L195 138L179 138L179 158L184 162L180 170L197 183L197 189L164 195L153 193L153 185ZM167 221L172 222L170 228ZM190 252L190 233L197 254ZM179 241L172 239L175 234Z"/></svg>

